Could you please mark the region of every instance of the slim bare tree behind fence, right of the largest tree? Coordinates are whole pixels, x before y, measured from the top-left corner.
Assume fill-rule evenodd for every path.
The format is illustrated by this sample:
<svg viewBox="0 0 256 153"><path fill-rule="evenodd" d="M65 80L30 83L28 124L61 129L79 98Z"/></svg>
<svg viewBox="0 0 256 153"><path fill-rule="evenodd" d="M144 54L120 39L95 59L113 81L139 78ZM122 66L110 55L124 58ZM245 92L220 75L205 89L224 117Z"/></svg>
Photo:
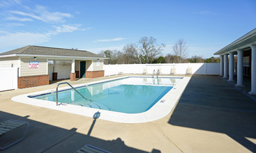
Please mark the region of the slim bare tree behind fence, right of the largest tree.
<svg viewBox="0 0 256 153"><path fill-rule="evenodd" d="M174 51L174 56L177 57L179 63L182 63L183 59L188 56L186 42L183 39L178 40L172 49Z"/></svg>

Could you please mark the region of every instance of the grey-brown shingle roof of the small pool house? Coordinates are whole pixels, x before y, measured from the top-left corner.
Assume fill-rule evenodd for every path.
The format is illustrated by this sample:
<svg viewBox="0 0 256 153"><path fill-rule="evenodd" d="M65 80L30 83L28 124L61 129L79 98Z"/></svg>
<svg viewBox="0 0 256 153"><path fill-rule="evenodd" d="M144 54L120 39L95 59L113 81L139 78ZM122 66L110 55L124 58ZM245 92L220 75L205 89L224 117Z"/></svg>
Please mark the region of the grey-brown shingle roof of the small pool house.
<svg viewBox="0 0 256 153"><path fill-rule="evenodd" d="M104 58L98 54L93 54L90 51L75 50L75 49L61 49L54 47L40 47L40 46L26 46L18 49L13 49L11 51L6 51L1 53L2 55L10 54L30 54L30 55L45 55L45 56L80 56L80 57L95 57Z"/></svg>

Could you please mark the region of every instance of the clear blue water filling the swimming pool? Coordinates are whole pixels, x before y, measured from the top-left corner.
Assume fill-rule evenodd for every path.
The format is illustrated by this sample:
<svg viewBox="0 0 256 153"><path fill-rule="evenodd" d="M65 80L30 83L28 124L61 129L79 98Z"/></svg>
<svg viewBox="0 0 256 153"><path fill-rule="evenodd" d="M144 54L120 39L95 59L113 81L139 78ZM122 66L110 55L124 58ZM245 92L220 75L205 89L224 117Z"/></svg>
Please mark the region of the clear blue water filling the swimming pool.
<svg viewBox="0 0 256 153"><path fill-rule="evenodd" d="M76 88L91 100L70 89L59 91L58 101L107 111L142 113L156 104L180 79L128 77ZM56 102L56 92L29 97Z"/></svg>

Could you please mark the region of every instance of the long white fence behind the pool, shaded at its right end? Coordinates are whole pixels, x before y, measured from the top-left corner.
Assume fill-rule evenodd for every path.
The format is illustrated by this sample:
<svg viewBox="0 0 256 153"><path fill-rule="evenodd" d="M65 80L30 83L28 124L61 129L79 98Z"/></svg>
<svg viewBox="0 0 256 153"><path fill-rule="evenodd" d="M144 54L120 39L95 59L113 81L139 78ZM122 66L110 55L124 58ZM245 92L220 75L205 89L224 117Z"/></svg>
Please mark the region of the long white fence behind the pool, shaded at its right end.
<svg viewBox="0 0 256 153"><path fill-rule="evenodd" d="M219 75L220 63L168 63L168 64L121 64L121 65L104 65L105 76L116 74L152 74L153 70L160 74L191 74L202 75Z"/></svg>

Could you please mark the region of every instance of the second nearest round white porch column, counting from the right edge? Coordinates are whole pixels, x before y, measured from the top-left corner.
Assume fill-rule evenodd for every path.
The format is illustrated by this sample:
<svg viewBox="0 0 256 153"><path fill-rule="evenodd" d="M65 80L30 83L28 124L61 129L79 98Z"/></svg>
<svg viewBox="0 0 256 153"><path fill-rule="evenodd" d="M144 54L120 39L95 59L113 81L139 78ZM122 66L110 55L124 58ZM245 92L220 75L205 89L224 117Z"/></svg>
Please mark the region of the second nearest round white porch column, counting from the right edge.
<svg viewBox="0 0 256 153"><path fill-rule="evenodd" d="M243 86L243 50L237 50L237 83L236 86Z"/></svg>

